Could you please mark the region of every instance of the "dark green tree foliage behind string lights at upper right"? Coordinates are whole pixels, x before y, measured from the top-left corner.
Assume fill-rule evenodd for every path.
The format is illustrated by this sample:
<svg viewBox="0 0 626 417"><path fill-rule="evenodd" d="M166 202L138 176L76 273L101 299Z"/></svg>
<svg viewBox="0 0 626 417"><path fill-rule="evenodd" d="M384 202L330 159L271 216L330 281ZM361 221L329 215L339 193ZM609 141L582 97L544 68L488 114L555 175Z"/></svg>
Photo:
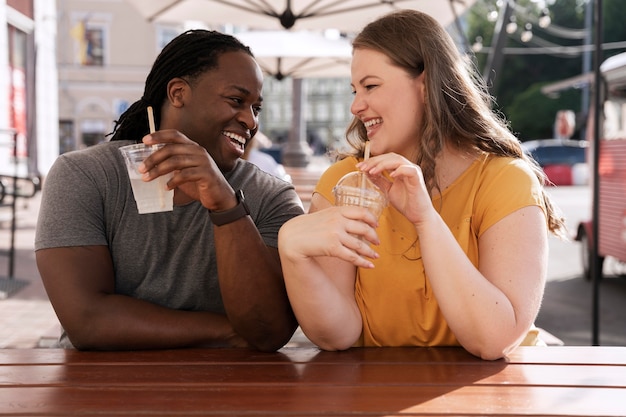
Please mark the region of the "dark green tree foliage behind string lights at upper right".
<svg viewBox="0 0 626 417"><path fill-rule="evenodd" d="M552 27L566 29L568 34L580 33L585 29L588 1L592 0L547 1ZM550 28L539 27L537 23L541 9L537 1L517 0L516 5L512 14L516 17L518 29L516 33L507 35L505 50L515 48L516 51L523 52L524 48L544 46L546 42L560 46L581 46L593 41L593 32L592 38L572 39L569 36L560 36L560 32L555 33ZM603 42L625 41L624 0L604 0L603 9ZM477 66L481 71L484 71L486 66L489 47L494 37L495 21L490 20L489 16L490 13L499 10L496 0L478 0L467 16L469 44L474 44L478 37L482 39L483 49L475 54ZM533 38L524 43L520 40L520 34L526 23L532 24ZM603 59L624 51L626 48L604 50ZM585 90L571 89L555 98L542 94L540 87L580 75L585 70L582 51L574 54L507 53L503 57L501 68L495 73L494 84L491 86L492 93L498 103L498 110L508 117L513 131L520 139L547 138L552 135L554 117L558 110L574 110L578 115L577 120L584 122L586 114L583 114L582 108L583 94L587 93ZM578 127L581 127L580 124Z"/></svg>

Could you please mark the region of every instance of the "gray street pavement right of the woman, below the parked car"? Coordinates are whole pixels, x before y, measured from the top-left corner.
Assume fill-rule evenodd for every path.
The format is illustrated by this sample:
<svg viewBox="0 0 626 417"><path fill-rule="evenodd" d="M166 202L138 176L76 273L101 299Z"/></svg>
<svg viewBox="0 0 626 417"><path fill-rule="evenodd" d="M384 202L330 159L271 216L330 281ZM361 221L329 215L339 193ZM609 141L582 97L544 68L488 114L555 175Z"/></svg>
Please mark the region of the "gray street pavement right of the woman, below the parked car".
<svg viewBox="0 0 626 417"><path fill-rule="evenodd" d="M587 186L550 187L548 193L565 215L570 234L591 217ZM566 345L593 344L593 283L582 276L580 243L550 238L548 282L537 326ZM600 345L626 346L626 266L613 259L604 265L598 291Z"/></svg>

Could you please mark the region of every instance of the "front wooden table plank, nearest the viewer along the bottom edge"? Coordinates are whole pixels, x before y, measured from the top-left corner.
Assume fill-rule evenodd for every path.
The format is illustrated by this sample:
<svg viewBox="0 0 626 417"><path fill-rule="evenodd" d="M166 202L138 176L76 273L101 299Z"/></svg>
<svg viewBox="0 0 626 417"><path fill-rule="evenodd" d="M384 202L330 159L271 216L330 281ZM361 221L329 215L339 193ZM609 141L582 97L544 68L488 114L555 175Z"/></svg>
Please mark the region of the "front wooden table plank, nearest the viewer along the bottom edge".
<svg viewBox="0 0 626 417"><path fill-rule="evenodd" d="M0 390L0 414L624 416L623 399L622 389L578 387L35 387Z"/></svg>

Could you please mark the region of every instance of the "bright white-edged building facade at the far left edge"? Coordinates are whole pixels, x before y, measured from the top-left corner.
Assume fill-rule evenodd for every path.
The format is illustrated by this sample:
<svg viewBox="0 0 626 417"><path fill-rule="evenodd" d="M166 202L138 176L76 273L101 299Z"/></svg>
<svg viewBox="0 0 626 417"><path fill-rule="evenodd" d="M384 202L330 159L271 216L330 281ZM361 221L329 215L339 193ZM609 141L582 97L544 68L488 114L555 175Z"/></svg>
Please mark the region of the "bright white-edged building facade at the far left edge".
<svg viewBox="0 0 626 417"><path fill-rule="evenodd" d="M54 2L0 0L0 26L0 174L39 176L58 155Z"/></svg>

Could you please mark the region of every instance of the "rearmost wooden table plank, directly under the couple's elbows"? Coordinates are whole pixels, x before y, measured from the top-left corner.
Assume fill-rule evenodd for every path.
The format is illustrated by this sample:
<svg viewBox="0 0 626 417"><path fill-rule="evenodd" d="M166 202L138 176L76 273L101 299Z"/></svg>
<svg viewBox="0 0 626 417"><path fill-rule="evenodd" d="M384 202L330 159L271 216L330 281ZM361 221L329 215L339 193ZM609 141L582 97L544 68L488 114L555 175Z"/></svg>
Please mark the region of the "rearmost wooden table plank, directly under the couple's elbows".
<svg viewBox="0 0 626 417"><path fill-rule="evenodd" d="M507 363L610 364L626 365L626 347L603 346L522 346L509 354ZM37 354L33 355L33 351ZM463 362L479 366L485 361L459 348L354 348L325 352L317 348L285 348L278 353L248 349L182 349L130 352L78 352L65 349L0 349L0 363L206 363L206 362L327 362L345 363L442 363ZM495 361L495 362L500 362Z"/></svg>

